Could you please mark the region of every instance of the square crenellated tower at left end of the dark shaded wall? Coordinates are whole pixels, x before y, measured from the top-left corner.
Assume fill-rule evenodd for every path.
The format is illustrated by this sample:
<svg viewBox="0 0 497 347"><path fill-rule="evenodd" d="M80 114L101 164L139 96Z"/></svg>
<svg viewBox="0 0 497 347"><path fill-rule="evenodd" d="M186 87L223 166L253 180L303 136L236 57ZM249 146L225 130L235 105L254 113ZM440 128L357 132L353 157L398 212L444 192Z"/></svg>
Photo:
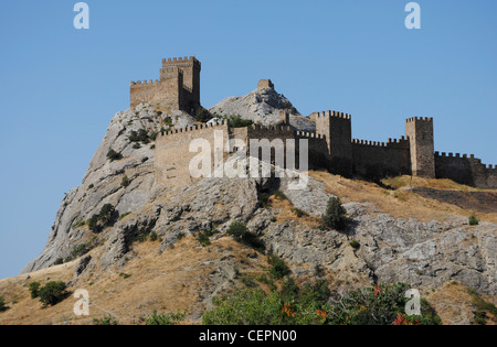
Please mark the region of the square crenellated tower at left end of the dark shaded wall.
<svg viewBox="0 0 497 347"><path fill-rule="evenodd" d="M350 115L326 111L310 115L316 133L326 138L329 170L343 175L352 174L352 124Z"/></svg>

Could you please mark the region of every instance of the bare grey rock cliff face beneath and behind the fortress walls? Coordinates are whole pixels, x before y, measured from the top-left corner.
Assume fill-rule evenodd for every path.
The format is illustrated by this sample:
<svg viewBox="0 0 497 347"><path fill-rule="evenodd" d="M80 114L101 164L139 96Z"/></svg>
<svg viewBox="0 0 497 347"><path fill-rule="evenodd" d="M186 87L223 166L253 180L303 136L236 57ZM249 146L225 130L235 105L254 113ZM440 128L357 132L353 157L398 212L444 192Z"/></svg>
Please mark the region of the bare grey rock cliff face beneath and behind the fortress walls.
<svg viewBox="0 0 497 347"><path fill-rule="evenodd" d="M242 116L254 119L258 110L265 109L264 105L271 104L274 93L268 88L258 89L242 98L243 102L228 99L211 111L232 115L250 109L251 112ZM255 95L269 99L258 102ZM276 120L273 119L277 115L275 110L282 105L272 107L273 113L264 111L266 122ZM313 126L298 115L293 117L305 127ZM420 218L394 217L374 199L355 200L352 193L369 189L366 184L341 178L334 183L336 189L330 191L334 176L329 174L310 177L304 191L289 191L287 178L204 178L178 189L155 184L154 141L131 141L133 131L138 133L141 129L150 135L166 124L183 128L193 123L186 113L159 115L150 105L114 116L83 184L64 197L45 249L22 272L49 268L57 259L77 259L85 253L75 251L82 246L92 252L77 260L76 279L96 270L119 269L135 258L134 242L140 236L155 231L161 240L157 251L167 256L184 237L212 228L224 232L231 223L239 220L258 235L267 249L285 259L297 278L314 276L314 269L320 267L345 290L371 281L403 281L420 288L436 288L456 280L479 292L497 294L497 225L482 223L469 227L467 217L447 213L446 206L440 207L443 220L426 221L421 218L422 213ZM150 142L144 143L147 141ZM110 149L123 159L110 161L107 158ZM349 187L347 194L340 193L342 187ZM272 195L276 191L285 193L288 199L272 198L268 206L263 206L262 192ZM340 232L324 231L317 221L332 194L346 202L349 224ZM388 194L381 191L379 195ZM82 221L98 214L105 204L115 206L116 217L120 218L94 234ZM423 199L419 204L432 203ZM307 215L296 217L295 208ZM408 202L403 208L410 210L417 205ZM360 248L353 249L351 240L358 241Z"/></svg>

